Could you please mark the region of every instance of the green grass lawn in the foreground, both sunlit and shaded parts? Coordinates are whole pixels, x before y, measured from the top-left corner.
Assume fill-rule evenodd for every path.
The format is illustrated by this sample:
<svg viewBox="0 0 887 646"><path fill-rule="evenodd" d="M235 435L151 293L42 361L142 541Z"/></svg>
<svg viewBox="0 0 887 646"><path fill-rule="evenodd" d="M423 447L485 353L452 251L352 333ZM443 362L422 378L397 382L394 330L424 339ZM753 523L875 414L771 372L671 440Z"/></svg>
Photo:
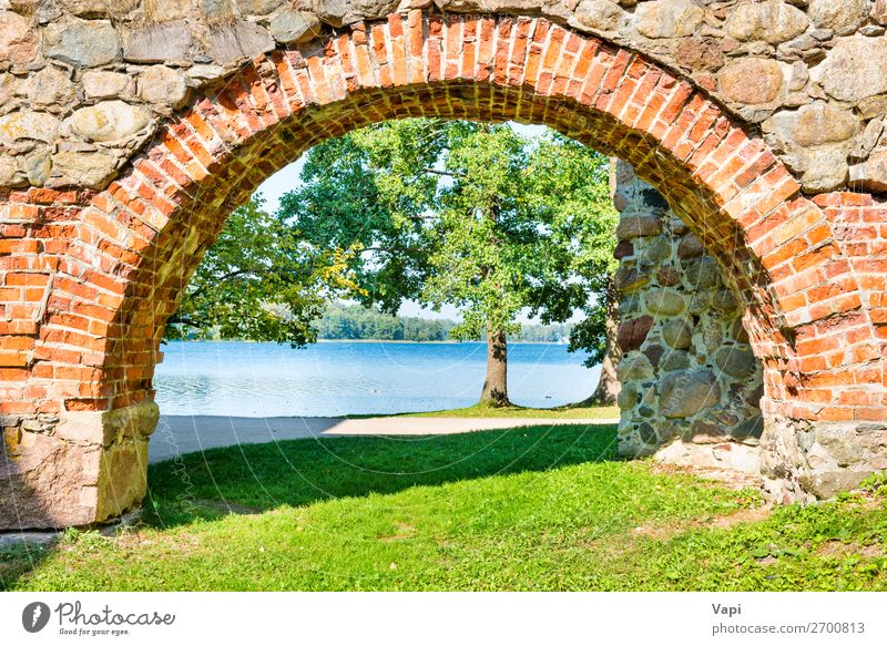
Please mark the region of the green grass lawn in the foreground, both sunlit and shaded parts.
<svg viewBox="0 0 887 646"><path fill-rule="evenodd" d="M151 466L141 526L0 553L8 589L887 589L887 488L769 514L615 428L340 438Z"/></svg>

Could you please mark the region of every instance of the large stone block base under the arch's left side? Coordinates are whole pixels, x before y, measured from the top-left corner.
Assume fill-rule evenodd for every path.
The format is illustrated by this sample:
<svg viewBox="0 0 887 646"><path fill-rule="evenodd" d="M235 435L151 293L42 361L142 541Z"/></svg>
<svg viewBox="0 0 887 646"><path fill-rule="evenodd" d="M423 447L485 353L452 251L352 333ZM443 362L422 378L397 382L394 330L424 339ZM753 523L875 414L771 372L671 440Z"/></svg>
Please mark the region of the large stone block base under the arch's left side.
<svg viewBox="0 0 887 646"><path fill-rule="evenodd" d="M0 527L101 523L142 502L157 406L0 417Z"/></svg>

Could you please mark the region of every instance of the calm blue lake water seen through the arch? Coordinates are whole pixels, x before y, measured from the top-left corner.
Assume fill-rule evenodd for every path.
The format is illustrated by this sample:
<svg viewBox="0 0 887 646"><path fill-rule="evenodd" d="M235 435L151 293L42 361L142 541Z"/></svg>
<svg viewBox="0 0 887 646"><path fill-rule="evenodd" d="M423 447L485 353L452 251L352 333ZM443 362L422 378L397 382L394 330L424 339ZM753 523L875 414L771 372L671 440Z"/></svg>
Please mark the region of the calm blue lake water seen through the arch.
<svg viewBox="0 0 887 646"><path fill-rule="evenodd" d="M441 410L477 402L486 343L171 342L154 380L164 414L335 417ZM567 346L509 347L514 403L553 407L591 394L600 369Z"/></svg>

